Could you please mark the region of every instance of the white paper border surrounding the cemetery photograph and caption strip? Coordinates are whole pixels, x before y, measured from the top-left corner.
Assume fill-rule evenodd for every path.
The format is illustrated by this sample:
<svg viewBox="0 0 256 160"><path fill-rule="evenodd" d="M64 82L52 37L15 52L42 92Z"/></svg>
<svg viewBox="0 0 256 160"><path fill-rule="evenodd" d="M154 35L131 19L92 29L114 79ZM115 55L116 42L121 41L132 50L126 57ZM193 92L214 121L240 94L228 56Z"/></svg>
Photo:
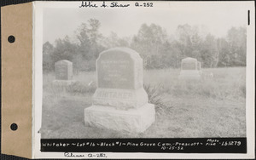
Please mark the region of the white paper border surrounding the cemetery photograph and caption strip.
<svg viewBox="0 0 256 160"><path fill-rule="evenodd" d="M151 1L150 1L151 2ZM152 1L153 2L153 1ZM95 2L102 3L102 2ZM128 2L125 3L136 3ZM142 2L143 3L143 2ZM188 3L197 3L201 5L206 2L168 2L155 1L155 8L161 8L171 5L183 5ZM254 2L207 2L212 5L227 5L227 8L232 7L232 3L241 3L241 7L250 10L251 24L247 26L247 97L246 97L246 117L247 117L247 154L226 154L226 153L119 153L119 152L104 152L108 155L107 158L175 158L175 159L247 159L255 158L255 10ZM42 123L42 97L43 97L43 10L45 8L78 8L81 2L33 2L33 126L32 126L32 157L33 158L79 158L65 157L63 152L42 152L40 151L41 136L39 130ZM131 6L132 7L132 6ZM76 154L89 154L76 153ZM96 153L94 153L96 154ZM90 158L90 157L81 157ZM94 157L95 158L95 157Z"/></svg>

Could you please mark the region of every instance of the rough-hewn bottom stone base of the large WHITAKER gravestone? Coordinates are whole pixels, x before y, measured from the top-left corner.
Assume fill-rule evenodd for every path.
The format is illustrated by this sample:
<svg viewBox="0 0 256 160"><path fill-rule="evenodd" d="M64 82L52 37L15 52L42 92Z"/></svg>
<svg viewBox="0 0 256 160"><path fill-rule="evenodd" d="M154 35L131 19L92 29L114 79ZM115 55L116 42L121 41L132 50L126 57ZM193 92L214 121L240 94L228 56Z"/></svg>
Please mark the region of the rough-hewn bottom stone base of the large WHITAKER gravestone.
<svg viewBox="0 0 256 160"><path fill-rule="evenodd" d="M137 109L117 110L111 106L90 106L84 109L84 124L97 128L142 133L154 123L154 105Z"/></svg>

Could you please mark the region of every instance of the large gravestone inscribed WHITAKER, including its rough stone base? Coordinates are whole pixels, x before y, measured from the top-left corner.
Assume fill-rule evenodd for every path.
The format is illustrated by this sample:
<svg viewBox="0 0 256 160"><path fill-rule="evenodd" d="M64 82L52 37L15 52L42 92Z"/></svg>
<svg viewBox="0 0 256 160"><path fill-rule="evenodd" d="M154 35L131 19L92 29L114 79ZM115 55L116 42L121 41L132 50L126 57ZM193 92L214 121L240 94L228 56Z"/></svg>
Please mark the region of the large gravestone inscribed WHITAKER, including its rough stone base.
<svg viewBox="0 0 256 160"><path fill-rule="evenodd" d="M127 48L103 51L96 60L97 89L84 123L140 133L154 123L154 105L143 89L143 60Z"/></svg>

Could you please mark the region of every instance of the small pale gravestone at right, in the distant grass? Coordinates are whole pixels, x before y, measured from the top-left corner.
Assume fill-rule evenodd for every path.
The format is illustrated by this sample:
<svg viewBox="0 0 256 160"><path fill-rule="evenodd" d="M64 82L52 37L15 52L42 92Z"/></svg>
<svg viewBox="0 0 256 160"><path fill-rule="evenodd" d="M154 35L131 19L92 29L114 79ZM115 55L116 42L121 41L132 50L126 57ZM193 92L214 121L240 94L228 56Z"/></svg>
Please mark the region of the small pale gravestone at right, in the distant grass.
<svg viewBox="0 0 256 160"><path fill-rule="evenodd" d="M187 57L181 61L179 79L199 80L201 78L201 62L194 58Z"/></svg>

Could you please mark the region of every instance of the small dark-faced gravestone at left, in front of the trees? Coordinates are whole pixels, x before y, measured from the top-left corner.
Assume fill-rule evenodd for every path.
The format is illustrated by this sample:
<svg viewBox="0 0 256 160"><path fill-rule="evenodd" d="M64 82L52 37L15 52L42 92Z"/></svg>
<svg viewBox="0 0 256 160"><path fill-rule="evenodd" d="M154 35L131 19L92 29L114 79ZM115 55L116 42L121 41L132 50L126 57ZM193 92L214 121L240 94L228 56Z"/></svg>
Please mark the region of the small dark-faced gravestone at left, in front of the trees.
<svg viewBox="0 0 256 160"><path fill-rule="evenodd" d="M55 62L55 84L73 83L73 63L69 60Z"/></svg>

